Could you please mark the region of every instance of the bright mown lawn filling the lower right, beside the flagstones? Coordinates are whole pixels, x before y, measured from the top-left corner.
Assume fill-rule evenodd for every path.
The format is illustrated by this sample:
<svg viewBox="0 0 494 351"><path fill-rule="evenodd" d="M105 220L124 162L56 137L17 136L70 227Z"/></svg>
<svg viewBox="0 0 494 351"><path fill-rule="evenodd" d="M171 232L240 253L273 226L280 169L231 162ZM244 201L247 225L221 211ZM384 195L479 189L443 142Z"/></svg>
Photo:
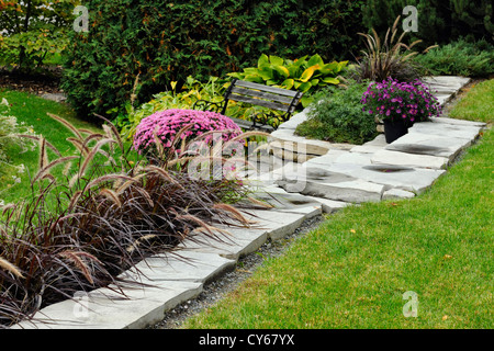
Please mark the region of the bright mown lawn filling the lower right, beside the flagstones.
<svg viewBox="0 0 494 351"><path fill-rule="evenodd" d="M492 93L479 84L451 115L492 122ZM490 129L424 194L329 216L183 327L492 328L493 165Z"/></svg>

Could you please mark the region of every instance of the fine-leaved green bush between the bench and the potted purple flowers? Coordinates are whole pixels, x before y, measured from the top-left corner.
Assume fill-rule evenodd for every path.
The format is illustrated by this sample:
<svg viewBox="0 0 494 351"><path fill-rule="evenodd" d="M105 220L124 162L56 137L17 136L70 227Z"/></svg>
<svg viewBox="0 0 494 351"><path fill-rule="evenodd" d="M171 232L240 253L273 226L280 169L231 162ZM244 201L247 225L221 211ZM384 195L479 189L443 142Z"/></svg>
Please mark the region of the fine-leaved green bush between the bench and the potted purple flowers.
<svg viewBox="0 0 494 351"><path fill-rule="evenodd" d="M316 94L307 121L295 133L333 143L363 144L377 136L374 117L362 111L360 102L367 83L350 83Z"/></svg>

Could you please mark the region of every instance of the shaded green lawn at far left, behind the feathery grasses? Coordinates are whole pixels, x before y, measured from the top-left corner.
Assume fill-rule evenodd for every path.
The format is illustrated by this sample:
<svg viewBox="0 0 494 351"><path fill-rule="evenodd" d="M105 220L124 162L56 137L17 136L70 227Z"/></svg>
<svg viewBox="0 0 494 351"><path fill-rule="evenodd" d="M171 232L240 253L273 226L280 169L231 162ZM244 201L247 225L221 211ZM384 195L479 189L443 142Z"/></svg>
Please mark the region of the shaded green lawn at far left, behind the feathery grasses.
<svg viewBox="0 0 494 351"><path fill-rule="evenodd" d="M66 141L67 137L74 135L64 125L49 117L46 113L56 114L78 128L99 129L94 125L79 120L72 110L65 104L48 101L30 93L11 90L0 90L0 101L3 98L11 104L9 114L14 115L18 118L18 123L25 122L26 125L32 126L36 135L43 135L63 154L63 156L72 155L76 150L70 143ZM21 149L19 147L12 147L8 150L11 163L18 166L24 165L29 172L26 171L23 174L12 174L12 170L2 170L0 173L0 199L3 200L5 204L16 202L30 194L30 174L33 176L37 171L37 150L23 154L20 151ZM49 154L49 156L56 157L55 154ZM58 169L58 173L61 173L61 169ZM22 182L15 183L12 176L19 176Z"/></svg>

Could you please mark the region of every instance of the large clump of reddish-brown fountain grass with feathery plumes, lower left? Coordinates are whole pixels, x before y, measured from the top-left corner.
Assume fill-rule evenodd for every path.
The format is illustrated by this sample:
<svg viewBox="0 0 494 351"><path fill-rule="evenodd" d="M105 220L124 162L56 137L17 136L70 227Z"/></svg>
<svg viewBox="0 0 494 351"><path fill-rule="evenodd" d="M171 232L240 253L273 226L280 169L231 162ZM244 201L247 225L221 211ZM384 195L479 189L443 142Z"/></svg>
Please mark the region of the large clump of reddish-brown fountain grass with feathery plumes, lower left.
<svg viewBox="0 0 494 351"><path fill-rule="evenodd" d="M125 279L116 276L145 257L170 252L184 238L222 240L215 223L248 225L232 205L244 188L235 180L191 177L183 167L193 155L134 162L113 125L90 133L53 117L74 133L70 141L80 154L60 157L36 137L33 197L2 208L0 326L77 291L110 283L119 291ZM60 166L66 176L56 179L52 170Z"/></svg>

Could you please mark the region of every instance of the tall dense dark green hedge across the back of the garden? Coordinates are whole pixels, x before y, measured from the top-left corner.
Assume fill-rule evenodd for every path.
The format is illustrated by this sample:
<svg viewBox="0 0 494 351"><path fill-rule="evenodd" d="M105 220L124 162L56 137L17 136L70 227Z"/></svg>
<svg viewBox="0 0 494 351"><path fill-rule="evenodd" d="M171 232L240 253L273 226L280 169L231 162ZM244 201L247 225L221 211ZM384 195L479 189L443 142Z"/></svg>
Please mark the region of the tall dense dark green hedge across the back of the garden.
<svg viewBox="0 0 494 351"><path fill-rule="evenodd" d="M124 111L139 75L144 103L187 77L204 81L266 53L343 59L357 48L363 1L89 0L90 30L70 32L63 88L81 116Z"/></svg>

